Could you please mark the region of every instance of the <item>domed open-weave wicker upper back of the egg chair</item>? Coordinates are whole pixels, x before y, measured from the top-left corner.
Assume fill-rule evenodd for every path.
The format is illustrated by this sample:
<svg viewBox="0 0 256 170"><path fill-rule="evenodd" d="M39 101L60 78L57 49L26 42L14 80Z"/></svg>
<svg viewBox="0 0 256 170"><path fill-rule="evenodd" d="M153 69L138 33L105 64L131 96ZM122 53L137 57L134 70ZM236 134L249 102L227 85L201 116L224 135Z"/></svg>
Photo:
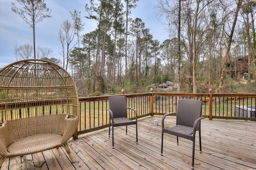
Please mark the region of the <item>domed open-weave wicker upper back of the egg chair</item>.
<svg viewBox="0 0 256 170"><path fill-rule="evenodd" d="M0 70L0 122L50 114L78 115L72 76L50 61L27 59Z"/></svg>

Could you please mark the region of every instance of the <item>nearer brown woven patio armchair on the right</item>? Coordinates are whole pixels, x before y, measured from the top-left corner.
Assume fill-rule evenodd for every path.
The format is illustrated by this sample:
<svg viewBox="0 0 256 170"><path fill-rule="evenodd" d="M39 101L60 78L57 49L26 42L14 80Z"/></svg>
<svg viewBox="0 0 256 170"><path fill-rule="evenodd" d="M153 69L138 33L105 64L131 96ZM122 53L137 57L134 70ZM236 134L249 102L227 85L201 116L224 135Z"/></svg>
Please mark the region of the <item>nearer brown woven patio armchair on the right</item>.
<svg viewBox="0 0 256 170"><path fill-rule="evenodd" d="M168 115L176 115L176 126L174 127L164 127L164 119ZM192 169L194 169L194 153L195 153L195 135L196 131L199 132L199 143L200 143L200 153L202 153L201 147L201 128L200 122L202 115L202 102L193 99L180 99L178 100L178 108L176 113L167 113L162 117L162 143L161 143L161 155L163 155L163 140L164 133L169 133L171 135L189 139L193 141L192 149Z"/></svg>

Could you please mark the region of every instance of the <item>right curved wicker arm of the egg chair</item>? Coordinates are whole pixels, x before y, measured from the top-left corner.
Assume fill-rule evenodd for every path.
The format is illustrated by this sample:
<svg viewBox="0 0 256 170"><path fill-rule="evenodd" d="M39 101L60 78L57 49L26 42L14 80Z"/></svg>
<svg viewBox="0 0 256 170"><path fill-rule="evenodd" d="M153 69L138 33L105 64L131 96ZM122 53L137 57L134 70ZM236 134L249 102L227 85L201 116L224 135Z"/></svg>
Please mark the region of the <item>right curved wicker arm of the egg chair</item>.
<svg viewBox="0 0 256 170"><path fill-rule="evenodd" d="M64 120L63 135L60 143L66 143L77 129L79 119L75 115L66 115Z"/></svg>

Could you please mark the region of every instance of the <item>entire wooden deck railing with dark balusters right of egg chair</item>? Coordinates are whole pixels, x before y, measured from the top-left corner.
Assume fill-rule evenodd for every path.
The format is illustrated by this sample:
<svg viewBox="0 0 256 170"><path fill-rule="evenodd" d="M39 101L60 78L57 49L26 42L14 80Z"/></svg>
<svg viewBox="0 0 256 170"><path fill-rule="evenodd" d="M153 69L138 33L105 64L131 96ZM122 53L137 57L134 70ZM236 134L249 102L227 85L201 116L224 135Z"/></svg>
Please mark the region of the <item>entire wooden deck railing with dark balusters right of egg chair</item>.
<svg viewBox="0 0 256 170"><path fill-rule="evenodd" d="M204 94L156 93L153 91L141 94L125 94L124 90L122 90L120 95L127 97L127 107L135 108L138 112L138 117L176 112L178 99L190 98L203 102L202 116L210 120L242 119L256 121L255 109L246 109L250 106L255 106L256 94L212 94L210 89L209 93ZM79 98L80 124L78 134L108 127L109 113L107 113L106 109L108 108L109 97ZM129 118L134 119L134 115L129 113Z"/></svg>

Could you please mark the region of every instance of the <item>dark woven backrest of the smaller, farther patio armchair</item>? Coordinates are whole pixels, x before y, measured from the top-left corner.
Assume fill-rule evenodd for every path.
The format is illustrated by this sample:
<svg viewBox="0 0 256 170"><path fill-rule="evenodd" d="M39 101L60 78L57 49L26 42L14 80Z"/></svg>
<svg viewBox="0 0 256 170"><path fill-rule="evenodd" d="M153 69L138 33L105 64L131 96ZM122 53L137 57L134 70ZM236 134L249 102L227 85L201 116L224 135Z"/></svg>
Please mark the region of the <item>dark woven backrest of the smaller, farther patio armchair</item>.
<svg viewBox="0 0 256 170"><path fill-rule="evenodd" d="M113 112L113 118L127 117L126 97L113 96L108 98L109 109Z"/></svg>

